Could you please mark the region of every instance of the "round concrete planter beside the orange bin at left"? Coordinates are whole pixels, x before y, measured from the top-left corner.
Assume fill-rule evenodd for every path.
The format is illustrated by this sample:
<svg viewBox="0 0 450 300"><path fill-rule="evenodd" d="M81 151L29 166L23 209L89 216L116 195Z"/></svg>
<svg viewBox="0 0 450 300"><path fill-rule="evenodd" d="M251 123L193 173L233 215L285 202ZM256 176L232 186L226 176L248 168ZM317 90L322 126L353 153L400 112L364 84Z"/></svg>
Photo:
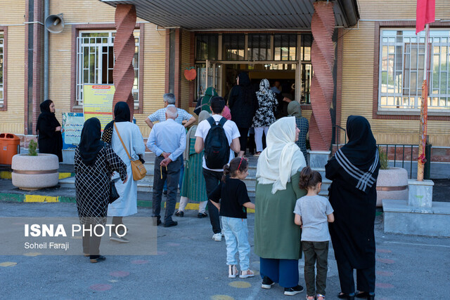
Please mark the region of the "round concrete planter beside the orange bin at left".
<svg viewBox="0 0 450 300"><path fill-rule="evenodd" d="M11 163L13 185L27 191L56 186L58 168L58 156L54 154L16 154Z"/></svg>

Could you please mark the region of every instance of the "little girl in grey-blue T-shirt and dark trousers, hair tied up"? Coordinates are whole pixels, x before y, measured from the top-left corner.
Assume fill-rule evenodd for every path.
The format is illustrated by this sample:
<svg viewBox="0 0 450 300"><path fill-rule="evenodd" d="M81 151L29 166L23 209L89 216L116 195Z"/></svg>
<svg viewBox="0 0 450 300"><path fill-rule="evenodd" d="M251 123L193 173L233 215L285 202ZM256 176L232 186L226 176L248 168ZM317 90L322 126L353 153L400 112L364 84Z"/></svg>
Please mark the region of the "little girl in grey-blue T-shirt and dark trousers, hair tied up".
<svg viewBox="0 0 450 300"><path fill-rule="evenodd" d="M333 207L327 198L319 196L322 177L311 168L300 172L300 188L307 189L306 196L295 203L295 224L302 226L302 248L304 253L304 281L307 284L307 299L325 299L326 273L328 271L328 222L333 222ZM317 262L317 278L314 282L314 265Z"/></svg>

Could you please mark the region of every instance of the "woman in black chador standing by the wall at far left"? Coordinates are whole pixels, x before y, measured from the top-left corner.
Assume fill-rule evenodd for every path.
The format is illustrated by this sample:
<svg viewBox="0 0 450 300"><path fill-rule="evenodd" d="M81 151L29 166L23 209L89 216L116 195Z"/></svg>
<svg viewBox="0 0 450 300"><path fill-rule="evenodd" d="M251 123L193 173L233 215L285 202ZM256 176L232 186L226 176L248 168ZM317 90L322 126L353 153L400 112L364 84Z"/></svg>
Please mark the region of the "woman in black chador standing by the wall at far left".
<svg viewBox="0 0 450 300"><path fill-rule="evenodd" d="M63 161L63 137L61 124L55 116L55 104L51 100L41 103L41 114L37 118L36 131L39 135L39 153L55 154L61 163Z"/></svg>

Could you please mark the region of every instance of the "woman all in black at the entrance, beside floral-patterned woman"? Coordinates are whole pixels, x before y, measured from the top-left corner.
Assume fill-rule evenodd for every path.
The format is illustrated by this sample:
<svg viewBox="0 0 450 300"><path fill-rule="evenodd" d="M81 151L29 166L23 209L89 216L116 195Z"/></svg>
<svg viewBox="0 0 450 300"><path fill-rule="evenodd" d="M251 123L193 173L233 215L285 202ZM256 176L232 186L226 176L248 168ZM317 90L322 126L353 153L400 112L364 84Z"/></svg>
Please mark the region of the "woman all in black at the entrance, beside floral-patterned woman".
<svg viewBox="0 0 450 300"><path fill-rule="evenodd" d="M238 75L237 85L231 90L228 103L231 109L231 121L238 125L240 133L239 156L243 157L247 149L248 128L252 127L253 116L258 109L256 93L250 84L247 73Z"/></svg>

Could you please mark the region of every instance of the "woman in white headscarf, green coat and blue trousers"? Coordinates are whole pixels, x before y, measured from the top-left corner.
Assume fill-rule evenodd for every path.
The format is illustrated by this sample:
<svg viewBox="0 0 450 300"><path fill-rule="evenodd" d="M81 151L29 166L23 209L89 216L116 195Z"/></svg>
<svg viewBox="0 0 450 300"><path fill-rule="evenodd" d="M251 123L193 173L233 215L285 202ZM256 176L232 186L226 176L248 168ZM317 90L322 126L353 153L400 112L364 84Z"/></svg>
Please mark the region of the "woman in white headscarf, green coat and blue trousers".
<svg viewBox="0 0 450 300"><path fill-rule="evenodd" d="M306 194L298 184L300 171L307 165L295 144L299 133L295 117L272 124L256 174L255 253L261 257L262 288L270 289L278 282L285 295L303 290L298 285L301 231L293 214L296 200Z"/></svg>

